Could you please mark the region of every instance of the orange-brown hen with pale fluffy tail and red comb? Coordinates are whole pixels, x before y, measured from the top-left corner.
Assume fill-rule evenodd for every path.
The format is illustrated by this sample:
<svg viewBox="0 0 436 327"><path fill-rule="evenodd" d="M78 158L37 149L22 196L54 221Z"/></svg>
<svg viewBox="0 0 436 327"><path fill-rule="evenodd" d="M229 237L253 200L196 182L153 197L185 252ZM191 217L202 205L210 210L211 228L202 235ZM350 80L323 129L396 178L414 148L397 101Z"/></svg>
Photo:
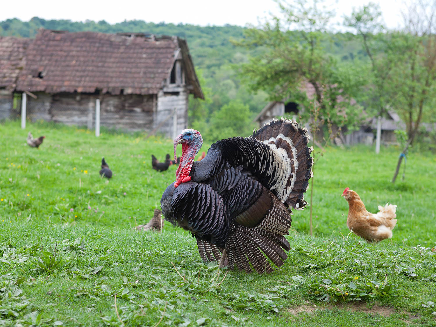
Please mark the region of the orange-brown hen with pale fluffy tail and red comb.
<svg viewBox="0 0 436 327"><path fill-rule="evenodd" d="M368 242L380 242L392 237L392 229L397 223L396 204L379 205L378 213L372 214L366 210L359 195L349 187L342 196L348 201L347 227L354 234Z"/></svg>

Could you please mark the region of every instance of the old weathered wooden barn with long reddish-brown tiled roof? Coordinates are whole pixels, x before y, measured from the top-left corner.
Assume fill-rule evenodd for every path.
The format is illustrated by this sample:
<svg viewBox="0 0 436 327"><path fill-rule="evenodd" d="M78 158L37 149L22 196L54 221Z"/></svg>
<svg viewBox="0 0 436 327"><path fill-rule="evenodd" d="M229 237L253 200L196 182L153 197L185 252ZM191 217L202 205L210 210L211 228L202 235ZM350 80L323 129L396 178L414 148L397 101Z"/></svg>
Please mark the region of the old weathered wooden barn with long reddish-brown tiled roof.
<svg viewBox="0 0 436 327"><path fill-rule="evenodd" d="M3 98L27 94L31 120L93 128L99 106L101 126L173 136L187 127L188 96L204 99L178 37L41 30L33 40L11 40L24 55L9 55L0 88Z"/></svg>

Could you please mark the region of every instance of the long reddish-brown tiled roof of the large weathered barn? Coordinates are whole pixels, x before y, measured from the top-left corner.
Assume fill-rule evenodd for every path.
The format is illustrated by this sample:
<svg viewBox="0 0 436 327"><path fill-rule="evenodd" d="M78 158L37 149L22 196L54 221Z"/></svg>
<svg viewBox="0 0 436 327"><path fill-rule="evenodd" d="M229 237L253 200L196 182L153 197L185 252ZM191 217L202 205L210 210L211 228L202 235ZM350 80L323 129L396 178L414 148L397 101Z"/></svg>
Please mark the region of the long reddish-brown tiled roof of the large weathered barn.
<svg viewBox="0 0 436 327"><path fill-rule="evenodd" d="M179 49L190 92L204 99L186 41L138 33L40 30L27 47L16 90L157 94Z"/></svg>

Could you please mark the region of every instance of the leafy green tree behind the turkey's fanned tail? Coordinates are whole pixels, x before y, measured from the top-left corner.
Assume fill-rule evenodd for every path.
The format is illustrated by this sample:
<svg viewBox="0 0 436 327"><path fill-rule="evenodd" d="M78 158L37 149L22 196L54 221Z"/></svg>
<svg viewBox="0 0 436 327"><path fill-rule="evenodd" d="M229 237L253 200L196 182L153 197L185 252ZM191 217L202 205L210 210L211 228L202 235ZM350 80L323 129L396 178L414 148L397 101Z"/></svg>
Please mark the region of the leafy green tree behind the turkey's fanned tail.
<svg viewBox="0 0 436 327"><path fill-rule="evenodd" d="M312 5L299 0L289 5L279 2L279 6L285 18L272 17L260 29L248 29L245 38L237 42L249 49L265 49L241 65L242 80L252 91L266 91L270 100L303 105L306 121L313 120L311 102L316 101L320 124L352 124L348 118L355 117L356 107L350 99L359 83L346 76L350 69L343 69L324 46L334 14L320 10L317 0Z"/></svg>

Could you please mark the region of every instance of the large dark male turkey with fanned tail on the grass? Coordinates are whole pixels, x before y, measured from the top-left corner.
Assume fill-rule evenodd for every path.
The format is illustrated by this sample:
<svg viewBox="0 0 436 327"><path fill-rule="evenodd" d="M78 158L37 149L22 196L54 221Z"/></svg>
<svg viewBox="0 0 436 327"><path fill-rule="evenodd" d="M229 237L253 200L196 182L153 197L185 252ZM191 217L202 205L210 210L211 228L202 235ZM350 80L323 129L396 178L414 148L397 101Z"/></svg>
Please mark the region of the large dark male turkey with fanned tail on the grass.
<svg viewBox="0 0 436 327"><path fill-rule="evenodd" d="M181 163L160 200L162 214L197 238L204 261L246 272L251 263L259 273L272 272L265 255L283 265L291 209L307 204L313 160L306 132L293 120L274 119L252 136L212 144L203 160L194 161L203 139L184 129L174 140L174 158L182 144Z"/></svg>

